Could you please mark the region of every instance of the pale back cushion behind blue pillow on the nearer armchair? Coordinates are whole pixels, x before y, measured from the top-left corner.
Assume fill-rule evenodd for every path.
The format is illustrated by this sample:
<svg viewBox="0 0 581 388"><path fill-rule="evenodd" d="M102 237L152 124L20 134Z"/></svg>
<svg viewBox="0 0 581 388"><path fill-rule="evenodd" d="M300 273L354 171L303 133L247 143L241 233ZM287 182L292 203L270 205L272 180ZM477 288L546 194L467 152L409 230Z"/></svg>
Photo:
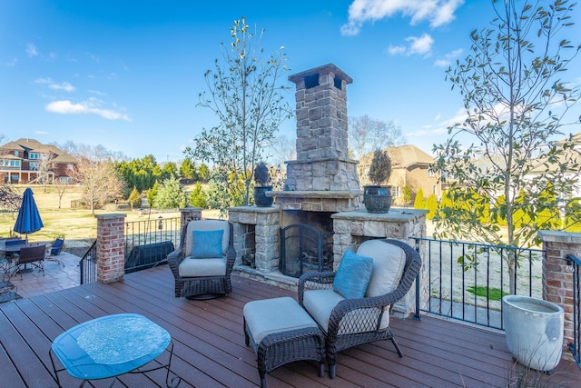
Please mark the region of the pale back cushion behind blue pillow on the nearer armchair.
<svg viewBox="0 0 581 388"><path fill-rule="evenodd" d="M394 291L406 266L406 253L399 246L381 240L368 240L358 254L373 259L373 272L365 296L380 296Z"/></svg>

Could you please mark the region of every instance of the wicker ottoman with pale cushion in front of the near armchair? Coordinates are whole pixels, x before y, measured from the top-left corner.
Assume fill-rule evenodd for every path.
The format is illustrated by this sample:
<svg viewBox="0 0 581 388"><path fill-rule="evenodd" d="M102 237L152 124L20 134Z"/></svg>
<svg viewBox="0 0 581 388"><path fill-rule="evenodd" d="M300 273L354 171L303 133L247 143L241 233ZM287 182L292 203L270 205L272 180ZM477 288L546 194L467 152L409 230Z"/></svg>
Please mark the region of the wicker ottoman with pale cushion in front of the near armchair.
<svg viewBox="0 0 581 388"><path fill-rule="evenodd" d="M291 297L264 299L244 305L244 338L258 355L261 386L266 373L298 360L319 362L324 376L325 342L319 326Z"/></svg>

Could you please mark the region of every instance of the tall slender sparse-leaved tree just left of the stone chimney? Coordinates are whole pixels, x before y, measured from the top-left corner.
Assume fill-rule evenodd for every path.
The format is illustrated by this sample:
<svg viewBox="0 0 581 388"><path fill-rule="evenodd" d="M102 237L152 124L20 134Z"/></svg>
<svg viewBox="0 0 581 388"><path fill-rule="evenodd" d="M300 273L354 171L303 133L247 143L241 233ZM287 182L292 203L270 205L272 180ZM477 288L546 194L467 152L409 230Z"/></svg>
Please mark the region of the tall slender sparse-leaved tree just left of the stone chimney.
<svg viewBox="0 0 581 388"><path fill-rule="evenodd" d="M199 105L216 114L220 123L203 129L195 147L185 150L192 159L214 164L214 180L222 193L231 193L222 211L251 203L254 166L292 114L283 95L287 57L281 51L267 55L261 48L263 34L243 16L234 21L230 44L222 43L223 64L216 60L214 69L205 73L207 91L199 95Z"/></svg>

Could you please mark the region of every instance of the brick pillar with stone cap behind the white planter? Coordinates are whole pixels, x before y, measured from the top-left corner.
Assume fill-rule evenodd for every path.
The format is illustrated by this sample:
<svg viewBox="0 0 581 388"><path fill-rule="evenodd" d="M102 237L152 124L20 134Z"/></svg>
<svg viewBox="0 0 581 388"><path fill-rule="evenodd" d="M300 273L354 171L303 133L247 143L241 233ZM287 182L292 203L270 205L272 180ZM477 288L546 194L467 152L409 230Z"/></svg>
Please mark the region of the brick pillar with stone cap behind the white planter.
<svg viewBox="0 0 581 388"><path fill-rule="evenodd" d="M573 357L567 344L574 341L573 333L573 274L567 272L566 255L581 253L581 234L555 231L539 231L543 241L543 299L558 304L565 311L563 356Z"/></svg>

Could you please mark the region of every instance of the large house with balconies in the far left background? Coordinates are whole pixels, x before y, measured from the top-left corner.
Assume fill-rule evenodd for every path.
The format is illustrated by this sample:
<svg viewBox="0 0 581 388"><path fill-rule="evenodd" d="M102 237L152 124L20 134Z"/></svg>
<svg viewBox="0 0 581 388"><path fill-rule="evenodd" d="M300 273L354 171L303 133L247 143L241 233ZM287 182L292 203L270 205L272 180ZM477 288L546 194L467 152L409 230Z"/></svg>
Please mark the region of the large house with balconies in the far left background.
<svg viewBox="0 0 581 388"><path fill-rule="evenodd" d="M51 144L18 139L0 146L0 182L5 184L71 183L73 156Z"/></svg>

